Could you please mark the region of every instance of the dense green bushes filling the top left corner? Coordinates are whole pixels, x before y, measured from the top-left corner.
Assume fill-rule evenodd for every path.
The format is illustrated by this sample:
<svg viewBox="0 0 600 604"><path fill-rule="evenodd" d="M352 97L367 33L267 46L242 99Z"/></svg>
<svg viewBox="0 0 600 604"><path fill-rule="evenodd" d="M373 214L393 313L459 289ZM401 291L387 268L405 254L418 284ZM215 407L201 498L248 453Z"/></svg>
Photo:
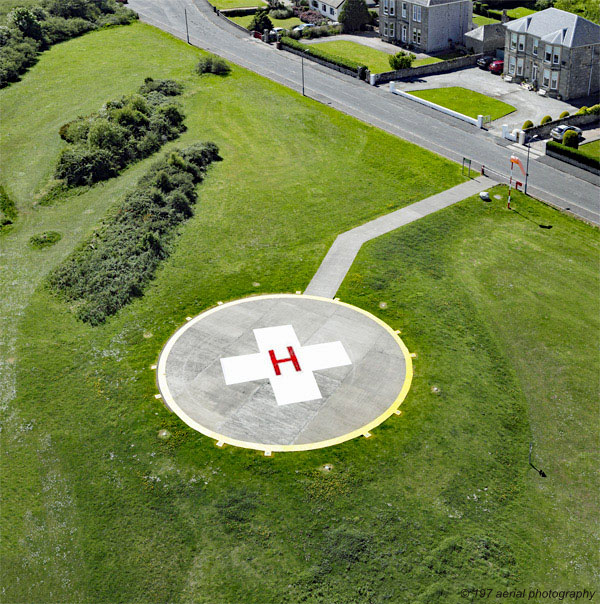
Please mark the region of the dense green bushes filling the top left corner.
<svg viewBox="0 0 600 604"><path fill-rule="evenodd" d="M39 0L17 7L0 27L0 88L16 82L38 52L92 29L125 25L137 14L115 0Z"/></svg>

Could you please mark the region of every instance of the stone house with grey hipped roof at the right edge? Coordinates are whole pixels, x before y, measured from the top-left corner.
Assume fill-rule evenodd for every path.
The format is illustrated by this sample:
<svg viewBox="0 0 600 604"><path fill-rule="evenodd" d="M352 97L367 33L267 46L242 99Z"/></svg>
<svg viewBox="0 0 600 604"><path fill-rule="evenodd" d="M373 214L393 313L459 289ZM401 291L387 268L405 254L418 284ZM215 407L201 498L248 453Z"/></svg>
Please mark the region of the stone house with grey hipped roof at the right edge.
<svg viewBox="0 0 600 604"><path fill-rule="evenodd" d="M600 90L600 26L548 8L505 24L505 79L563 100Z"/></svg>

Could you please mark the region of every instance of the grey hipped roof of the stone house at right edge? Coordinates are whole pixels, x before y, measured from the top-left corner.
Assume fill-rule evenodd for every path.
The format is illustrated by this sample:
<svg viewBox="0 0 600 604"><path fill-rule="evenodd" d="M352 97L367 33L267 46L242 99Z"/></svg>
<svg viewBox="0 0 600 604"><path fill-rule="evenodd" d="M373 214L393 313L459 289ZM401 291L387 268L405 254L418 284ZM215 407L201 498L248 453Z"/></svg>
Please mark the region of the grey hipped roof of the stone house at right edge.
<svg viewBox="0 0 600 604"><path fill-rule="evenodd" d="M567 48L600 44L600 25L557 8L547 8L510 21L505 27L509 31L530 34L548 44L560 44Z"/></svg>

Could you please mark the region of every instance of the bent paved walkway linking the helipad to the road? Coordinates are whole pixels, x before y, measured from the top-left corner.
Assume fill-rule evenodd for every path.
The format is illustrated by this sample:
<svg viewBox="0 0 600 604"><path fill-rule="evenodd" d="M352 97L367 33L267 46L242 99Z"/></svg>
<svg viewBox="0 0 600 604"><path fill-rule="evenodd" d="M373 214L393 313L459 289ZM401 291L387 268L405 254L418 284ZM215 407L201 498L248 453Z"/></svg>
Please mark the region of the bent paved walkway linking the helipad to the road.
<svg viewBox="0 0 600 604"><path fill-rule="evenodd" d="M486 176L479 176L338 235L304 293L333 298L363 243L485 191L494 184Z"/></svg>

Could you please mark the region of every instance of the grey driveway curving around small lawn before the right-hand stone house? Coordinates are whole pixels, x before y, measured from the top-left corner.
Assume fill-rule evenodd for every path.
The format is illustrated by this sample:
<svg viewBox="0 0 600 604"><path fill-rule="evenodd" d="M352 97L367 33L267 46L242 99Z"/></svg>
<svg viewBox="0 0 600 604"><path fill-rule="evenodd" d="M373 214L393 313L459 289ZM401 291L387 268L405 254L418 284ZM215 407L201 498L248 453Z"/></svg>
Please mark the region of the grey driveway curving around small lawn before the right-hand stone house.
<svg viewBox="0 0 600 604"><path fill-rule="evenodd" d="M503 124L507 124L509 129L512 130L513 128L521 128L526 120L539 124L545 115L550 115L553 119L556 119L563 111L574 113L578 110L577 107L568 102L541 97L531 90L525 90L518 84L505 82L500 76L478 67L469 67L451 73L422 76L413 82L396 82L396 88L407 92L448 86L461 86L474 90L516 108L513 113L492 122L490 130L494 134L500 133Z"/></svg>

